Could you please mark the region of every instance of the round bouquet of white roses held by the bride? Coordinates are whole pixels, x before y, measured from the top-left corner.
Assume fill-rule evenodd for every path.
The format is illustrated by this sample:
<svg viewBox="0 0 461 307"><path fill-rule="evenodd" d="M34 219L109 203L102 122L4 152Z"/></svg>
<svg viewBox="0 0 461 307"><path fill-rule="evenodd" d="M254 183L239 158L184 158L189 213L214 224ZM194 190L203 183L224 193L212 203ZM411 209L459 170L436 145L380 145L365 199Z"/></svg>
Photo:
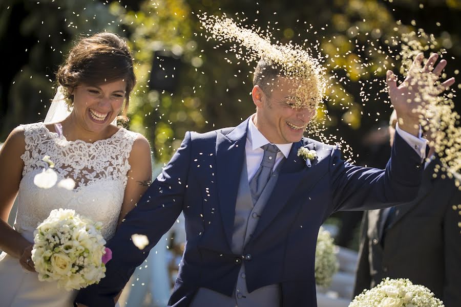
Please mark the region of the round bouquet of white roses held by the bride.
<svg viewBox="0 0 461 307"><path fill-rule="evenodd" d="M51 211L34 232L32 261L38 279L57 281L67 291L99 282L111 258L101 227L74 210Z"/></svg>

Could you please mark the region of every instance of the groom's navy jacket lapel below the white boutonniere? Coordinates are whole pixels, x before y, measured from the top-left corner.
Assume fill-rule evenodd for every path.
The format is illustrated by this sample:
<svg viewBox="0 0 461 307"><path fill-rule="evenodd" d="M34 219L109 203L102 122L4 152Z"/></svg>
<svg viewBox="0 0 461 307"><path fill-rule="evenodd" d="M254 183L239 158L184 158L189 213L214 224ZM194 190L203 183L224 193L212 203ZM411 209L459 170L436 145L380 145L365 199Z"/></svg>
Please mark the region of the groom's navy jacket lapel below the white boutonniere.
<svg viewBox="0 0 461 307"><path fill-rule="evenodd" d="M291 146L288 158L283 162L277 184L269 196L269 199L267 200L252 239L255 239L259 234L261 234L270 224L270 222L274 220L280 210L282 210L282 208L285 206L293 191L299 186L302 178L308 171L309 168L306 166L304 159L298 157L298 149L301 146L301 141L293 143ZM315 148L313 143L309 143L304 147L308 148L309 150ZM314 166L316 163L317 160L313 161L312 166ZM315 184L315 182L312 182L312 185Z"/></svg>

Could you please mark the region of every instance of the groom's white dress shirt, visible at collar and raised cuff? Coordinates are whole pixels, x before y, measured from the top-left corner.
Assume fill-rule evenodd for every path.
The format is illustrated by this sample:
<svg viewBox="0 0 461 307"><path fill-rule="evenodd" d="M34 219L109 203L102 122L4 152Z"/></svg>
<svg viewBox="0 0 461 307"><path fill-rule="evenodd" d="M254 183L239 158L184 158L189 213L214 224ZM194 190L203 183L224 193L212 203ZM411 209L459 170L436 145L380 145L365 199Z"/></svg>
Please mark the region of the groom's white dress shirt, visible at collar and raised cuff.
<svg viewBox="0 0 461 307"><path fill-rule="evenodd" d="M427 140L421 137L422 132L420 129L420 137L417 138L412 134L399 128L399 124L395 127L396 133L398 133L405 142L408 143L420 156L421 161L426 157L426 143ZM245 144L245 155L246 155L246 168L248 171L248 182L255 176L256 171L258 170L261 161L264 157L264 149L261 147L269 144L270 142L263 136L263 134L258 130L258 128L253 123L253 117L248 121L247 134L246 134L246 144ZM274 169L280 164L282 158L288 158L288 155L291 150L291 145L288 144L274 144L279 148L277 152L276 163Z"/></svg>

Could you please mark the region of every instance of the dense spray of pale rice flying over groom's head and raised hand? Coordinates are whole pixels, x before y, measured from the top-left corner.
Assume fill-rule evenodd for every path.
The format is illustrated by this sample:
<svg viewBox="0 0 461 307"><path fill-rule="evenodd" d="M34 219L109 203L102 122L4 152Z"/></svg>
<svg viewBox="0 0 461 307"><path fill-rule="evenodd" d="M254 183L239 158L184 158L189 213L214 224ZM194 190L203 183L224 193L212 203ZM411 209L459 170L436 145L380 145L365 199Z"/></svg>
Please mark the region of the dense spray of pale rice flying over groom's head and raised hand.
<svg viewBox="0 0 461 307"><path fill-rule="evenodd" d="M243 26L242 22L245 19L240 20L237 18L237 21L235 21L232 18L228 18L226 14L218 17L213 15L208 16L204 13L198 15L198 17L200 18L203 28L209 33L207 39L218 41L218 45L215 48L223 47L224 42L234 43L233 46L228 47L227 53L233 53L237 60L246 61L248 64L251 64L259 59L264 59L270 62L274 68L280 69L281 76L295 78L299 83L299 87L296 93L293 93L293 96L301 97L301 99L299 99L297 103L293 103L293 107L306 107L306 105L309 105L309 101L314 101L315 103L310 104L310 106L315 109L316 114L319 114L319 111L323 111L327 114L326 107L323 105L323 100L325 98L334 100L331 94L335 92L337 85L340 82L347 83L350 81L346 77L338 77L335 71L345 69L349 73L349 71L355 69L360 77L360 72L365 74L367 68L371 66L374 67L373 74L378 76L387 70L395 69L394 61L401 61L400 73L404 77L408 74L412 74L410 76L412 80L418 80L417 84L410 84L410 88L412 86L418 86L424 89L424 92L416 96L416 100L423 103L422 106L418 107L415 111L421 114L420 123L433 140L429 144L435 147L436 152L441 158L444 165L442 171L447 172L450 178L454 176L456 185L459 186L459 180L456 178L458 178L457 175L459 175L461 169L461 128L458 127L459 115L453 110L454 103L452 98L455 96L455 92L454 90L444 92L445 89L442 89L441 82L437 81L438 75L433 74L432 71L410 71L411 64L417 54L428 50L438 52L441 56L446 53L444 48L438 47L434 35L425 33L423 29L418 29L416 32L410 31L404 33L401 37L393 36L391 41L387 41L387 51L376 47L370 49L370 46L375 46L370 39L367 40L370 45L367 48L357 45L358 41L356 40L356 48L362 50L367 49L370 55L379 54L383 60L380 60L378 63L372 61L366 63L362 61L362 59L356 58L354 59L354 63L352 63L354 67L352 67L350 63L348 63L348 65L336 64L330 67L330 71L328 71L323 65L328 67L330 64L326 63L324 57L317 56L315 58L312 56L312 51L319 49L316 45L313 45L311 48L306 48L305 45L299 46L292 42L284 45L279 41L271 43L274 39L273 34L269 31L262 33L260 28L254 25L249 27ZM324 28L322 29L324 30ZM356 36L360 34L359 27L356 27L354 31L356 32L354 33ZM377 42L378 40L376 40L376 45ZM398 53L393 52L392 48L399 45L399 43L401 50ZM348 53L351 53L351 51L346 52L346 54ZM232 62L227 57L226 60L229 63ZM334 63L334 60L332 61ZM444 75L443 78L445 78ZM305 82L303 82L304 80ZM278 86L276 82L277 80L274 80L270 85L273 87ZM359 81L359 83L362 84L360 96L362 97L363 106L369 103L371 99L368 93L369 91L367 92L366 89L380 86L380 93L387 93L388 91L385 78L369 78L364 81ZM330 96L326 96L326 92L328 92ZM337 103L337 101L333 102L333 104L335 103ZM353 103L350 102L349 105L353 105ZM356 117L353 112L353 110L346 112L343 119L351 121L348 119L349 116ZM376 115L379 116L380 114L377 113ZM309 128L306 127L306 131L308 131L310 135L319 137L323 142L331 143L331 141L333 141L339 143L339 145L343 145L343 152L348 153L348 156L345 155L346 158L351 158L352 150L343 139L338 140L335 136L325 136L321 133L322 130L324 130L325 120L328 119L328 117L316 116L313 119ZM378 118L376 121L377 120Z"/></svg>

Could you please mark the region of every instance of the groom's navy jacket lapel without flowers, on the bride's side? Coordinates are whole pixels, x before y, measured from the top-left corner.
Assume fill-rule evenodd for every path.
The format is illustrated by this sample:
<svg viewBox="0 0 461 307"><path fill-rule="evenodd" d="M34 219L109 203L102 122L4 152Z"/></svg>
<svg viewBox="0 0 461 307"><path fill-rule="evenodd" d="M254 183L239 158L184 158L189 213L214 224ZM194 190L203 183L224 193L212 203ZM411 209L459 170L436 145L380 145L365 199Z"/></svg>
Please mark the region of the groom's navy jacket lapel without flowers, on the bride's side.
<svg viewBox="0 0 461 307"><path fill-rule="evenodd" d="M219 208L229 248L232 247L235 204L237 201L242 163L245 162L247 126L248 119L227 135L218 133L216 139L216 176Z"/></svg>

